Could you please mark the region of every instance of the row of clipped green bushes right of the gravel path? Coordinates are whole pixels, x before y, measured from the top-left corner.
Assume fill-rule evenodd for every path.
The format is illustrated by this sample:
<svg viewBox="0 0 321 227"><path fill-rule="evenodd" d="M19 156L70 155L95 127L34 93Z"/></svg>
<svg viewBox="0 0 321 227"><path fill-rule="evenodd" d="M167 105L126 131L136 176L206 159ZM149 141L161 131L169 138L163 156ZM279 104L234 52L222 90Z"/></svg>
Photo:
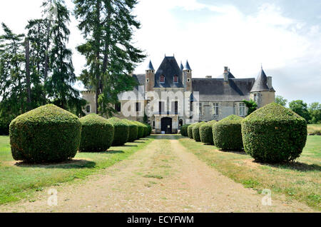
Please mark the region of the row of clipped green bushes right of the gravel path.
<svg viewBox="0 0 321 227"><path fill-rule="evenodd" d="M217 123L193 123L182 128L183 136L186 136L187 128L187 136L195 141L214 143L222 150L244 149L255 161L266 163L295 161L307 140L305 119L275 103L254 111L244 119L232 115Z"/></svg>

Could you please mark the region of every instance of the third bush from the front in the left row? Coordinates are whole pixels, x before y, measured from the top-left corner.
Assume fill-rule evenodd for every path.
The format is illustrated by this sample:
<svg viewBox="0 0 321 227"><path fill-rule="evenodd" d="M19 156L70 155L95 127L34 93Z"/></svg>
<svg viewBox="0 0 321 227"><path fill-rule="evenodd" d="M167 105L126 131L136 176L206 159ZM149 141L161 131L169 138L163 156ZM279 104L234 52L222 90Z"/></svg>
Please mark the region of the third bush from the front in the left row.
<svg viewBox="0 0 321 227"><path fill-rule="evenodd" d="M109 121L115 128L112 146L122 146L127 143L129 137L128 123L116 117L109 118L107 121Z"/></svg>

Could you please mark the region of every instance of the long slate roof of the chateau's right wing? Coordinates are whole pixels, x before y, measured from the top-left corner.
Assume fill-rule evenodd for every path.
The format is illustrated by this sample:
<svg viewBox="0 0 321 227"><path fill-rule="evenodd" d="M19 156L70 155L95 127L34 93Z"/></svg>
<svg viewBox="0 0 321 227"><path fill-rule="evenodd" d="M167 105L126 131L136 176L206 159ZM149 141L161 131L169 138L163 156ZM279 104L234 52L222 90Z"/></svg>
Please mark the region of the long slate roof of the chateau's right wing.
<svg viewBox="0 0 321 227"><path fill-rule="evenodd" d="M193 91L199 92L200 101L243 101L250 99L250 91L255 83L250 79L192 79ZM195 96L194 96L195 98Z"/></svg>

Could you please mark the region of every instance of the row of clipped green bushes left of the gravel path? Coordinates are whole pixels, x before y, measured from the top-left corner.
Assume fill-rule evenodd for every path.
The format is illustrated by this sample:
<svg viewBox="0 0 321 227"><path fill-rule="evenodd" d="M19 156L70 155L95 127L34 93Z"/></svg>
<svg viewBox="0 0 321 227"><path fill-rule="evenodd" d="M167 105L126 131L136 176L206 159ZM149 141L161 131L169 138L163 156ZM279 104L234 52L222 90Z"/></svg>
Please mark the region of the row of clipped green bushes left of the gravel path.
<svg viewBox="0 0 321 227"><path fill-rule="evenodd" d="M9 134L16 161L52 163L73 158L77 151L107 151L111 146L149 136L151 126L97 114L78 119L49 104L16 117L10 123Z"/></svg>

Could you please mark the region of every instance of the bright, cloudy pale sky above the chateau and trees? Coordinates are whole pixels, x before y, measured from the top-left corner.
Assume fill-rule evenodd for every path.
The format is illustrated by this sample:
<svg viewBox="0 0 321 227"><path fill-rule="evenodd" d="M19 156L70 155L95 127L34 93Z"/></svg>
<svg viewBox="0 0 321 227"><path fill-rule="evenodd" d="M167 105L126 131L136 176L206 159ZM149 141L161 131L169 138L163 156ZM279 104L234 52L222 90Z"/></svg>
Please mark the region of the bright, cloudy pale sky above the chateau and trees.
<svg viewBox="0 0 321 227"><path fill-rule="evenodd" d="M0 22L24 33L26 21L41 16L41 2L3 1ZM262 64L276 95L321 102L320 0L141 0L133 13L141 21L133 43L148 55L135 73L149 60L157 70L165 55L178 64L188 59L194 78L220 76L224 66L236 78L256 78ZM85 59L76 51L83 42L77 24L72 17L68 47L79 74Z"/></svg>

